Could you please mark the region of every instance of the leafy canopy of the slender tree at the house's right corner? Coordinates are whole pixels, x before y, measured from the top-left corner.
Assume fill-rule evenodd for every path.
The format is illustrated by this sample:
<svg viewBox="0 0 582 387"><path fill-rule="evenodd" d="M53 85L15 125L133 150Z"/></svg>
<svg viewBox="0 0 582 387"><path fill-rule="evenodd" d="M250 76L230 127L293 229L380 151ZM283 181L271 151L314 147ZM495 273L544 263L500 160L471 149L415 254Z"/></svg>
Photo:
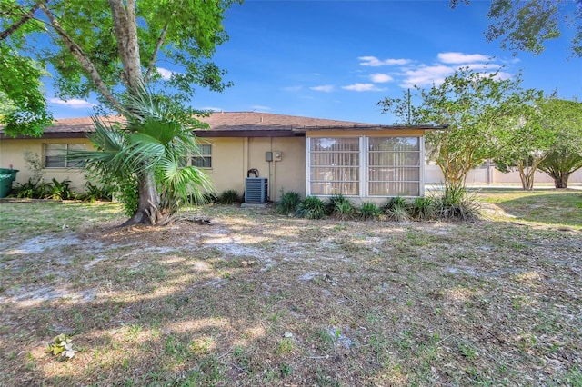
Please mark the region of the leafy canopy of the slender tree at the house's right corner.
<svg viewBox="0 0 582 387"><path fill-rule="evenodd" d="M492 129L519 90L518 78L498 75L462 67L430 89L416 86L417 104L410 104L406 95L386 97L378 104L406 124L447 125L425 135L427 154L442 171L447 187L464 187L469 170L491 154Z"/></svg>

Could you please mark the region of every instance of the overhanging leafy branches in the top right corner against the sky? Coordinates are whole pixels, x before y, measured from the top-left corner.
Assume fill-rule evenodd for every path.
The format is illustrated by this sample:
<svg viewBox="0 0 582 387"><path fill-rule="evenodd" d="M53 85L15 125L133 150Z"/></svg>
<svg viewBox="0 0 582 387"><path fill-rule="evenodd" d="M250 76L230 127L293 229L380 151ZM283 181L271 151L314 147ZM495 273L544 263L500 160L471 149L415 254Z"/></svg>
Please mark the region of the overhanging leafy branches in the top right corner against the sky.
<svg viewBox="0 0 582 387"><path fill-rule="evenodd" d="M470 0L450 0L455 8ZM492 0L487 18L492 20L485 36L488 42L501 39L501 47L527 51L534 55L544 51L548 39L564 34L563 26L574 29L570 55L582 57L582 3L579 0ZM562 24L562 25L561 25Z"/></svg>

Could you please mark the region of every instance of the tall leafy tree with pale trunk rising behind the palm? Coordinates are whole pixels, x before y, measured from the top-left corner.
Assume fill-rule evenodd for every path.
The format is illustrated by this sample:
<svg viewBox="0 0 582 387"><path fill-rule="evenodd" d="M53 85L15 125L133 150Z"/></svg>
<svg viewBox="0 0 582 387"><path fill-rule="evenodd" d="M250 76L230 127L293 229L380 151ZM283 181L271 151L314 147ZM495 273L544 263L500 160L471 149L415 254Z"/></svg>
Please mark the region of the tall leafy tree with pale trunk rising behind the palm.
<svg viewBox="0 0 582 387"><path fill-rule="evenodd" d="M57 96L67 100L96 94L105 109L127 115L126 99L145 91L166 104L183 106L196 85L214 91L228 85L223 82L225 71L211 58L216 46L227 40L222 22L234 1L3 0L3 10L31 15L23 26L40 25L23 38L41 44L18 48L55 69ZM18 17L14 20L17 23ZM179 68L169 80L158 71L162 61ZM175 116L199 126L189 118L197 113L185 107ZM127 118L135 121L135 116ZM162 218L154 174L152 168L136 171L139 203L129 223L151 224Z"/></svg>

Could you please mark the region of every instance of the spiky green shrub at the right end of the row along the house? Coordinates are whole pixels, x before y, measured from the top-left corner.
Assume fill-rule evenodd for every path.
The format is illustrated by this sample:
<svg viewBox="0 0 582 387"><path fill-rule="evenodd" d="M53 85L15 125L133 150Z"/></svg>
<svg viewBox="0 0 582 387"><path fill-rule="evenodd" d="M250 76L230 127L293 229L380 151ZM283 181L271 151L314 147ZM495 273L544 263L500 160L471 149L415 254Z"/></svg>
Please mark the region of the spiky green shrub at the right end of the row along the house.
<svg viewBox="0 0 582 387"><path fill-rule="evenodd" d="M436 200L437 216L443 220L473 221L479 215L479 202L464 186L446 186Z"/></svg>

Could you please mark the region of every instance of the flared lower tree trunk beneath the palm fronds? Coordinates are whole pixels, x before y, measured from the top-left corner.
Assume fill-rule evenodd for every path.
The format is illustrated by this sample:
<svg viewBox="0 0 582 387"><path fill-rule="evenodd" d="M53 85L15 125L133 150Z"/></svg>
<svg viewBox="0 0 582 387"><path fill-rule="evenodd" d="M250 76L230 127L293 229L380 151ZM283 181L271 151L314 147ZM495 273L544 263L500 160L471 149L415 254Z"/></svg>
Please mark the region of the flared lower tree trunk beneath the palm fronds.
<svg viewBox="0 0 582 387"><path fill-rule="evenodd" d="M132 224L156 225L162 223L164 214L160 211L160 198L153 171L147 171L138 181L139 203L137 210L120 227Z"/></svg>

